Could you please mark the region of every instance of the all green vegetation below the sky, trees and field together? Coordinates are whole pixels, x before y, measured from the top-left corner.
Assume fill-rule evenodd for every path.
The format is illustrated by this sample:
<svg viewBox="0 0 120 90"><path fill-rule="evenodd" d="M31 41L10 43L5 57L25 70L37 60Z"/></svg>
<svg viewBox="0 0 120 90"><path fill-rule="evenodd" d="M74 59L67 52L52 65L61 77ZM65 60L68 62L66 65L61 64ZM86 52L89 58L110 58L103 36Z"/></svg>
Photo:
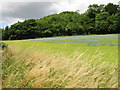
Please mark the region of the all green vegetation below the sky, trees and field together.
<svg viewBox="0 0 120 90"><path fill-rule="evenodd" d="M2 87L117 88L119 8L93 4L0 29ZM43 38L53 36L72 37Z"/></svg>

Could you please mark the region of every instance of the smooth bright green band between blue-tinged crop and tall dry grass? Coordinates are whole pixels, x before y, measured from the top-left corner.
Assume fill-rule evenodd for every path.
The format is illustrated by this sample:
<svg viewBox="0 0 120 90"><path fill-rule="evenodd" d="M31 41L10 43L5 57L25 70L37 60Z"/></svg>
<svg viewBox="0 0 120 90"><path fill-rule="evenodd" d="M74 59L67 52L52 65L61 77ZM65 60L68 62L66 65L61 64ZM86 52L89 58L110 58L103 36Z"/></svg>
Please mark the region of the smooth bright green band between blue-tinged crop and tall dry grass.
<svg viewBox="0 0 120 90"><path fill-rule="evenodd" d="M33 52L40 52L42 50L50 52L54 50L54 53L62 53L63 56L69 56L76 51L86 52L86 56L93 56L98 49L99 52L104 53L102 59L103 61L117 63L118 60L118 46L89 46L84 44L49 43L41 41L6 41L5 43L19 49L21 52L23 52L26 48L32 47Z"/></svg>

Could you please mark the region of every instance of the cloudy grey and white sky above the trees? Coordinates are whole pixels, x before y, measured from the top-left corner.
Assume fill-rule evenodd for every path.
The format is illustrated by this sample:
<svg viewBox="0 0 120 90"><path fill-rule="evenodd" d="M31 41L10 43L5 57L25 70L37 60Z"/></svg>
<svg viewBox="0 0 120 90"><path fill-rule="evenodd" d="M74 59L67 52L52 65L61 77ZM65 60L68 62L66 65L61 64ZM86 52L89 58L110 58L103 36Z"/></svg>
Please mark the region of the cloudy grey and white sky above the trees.
<svg viewBox="0 0 120 90"><path fill-rule="evenodd" d="M84 13L90 4L118 4L120 0L1 0L0 27L63 11Z"/></svg>

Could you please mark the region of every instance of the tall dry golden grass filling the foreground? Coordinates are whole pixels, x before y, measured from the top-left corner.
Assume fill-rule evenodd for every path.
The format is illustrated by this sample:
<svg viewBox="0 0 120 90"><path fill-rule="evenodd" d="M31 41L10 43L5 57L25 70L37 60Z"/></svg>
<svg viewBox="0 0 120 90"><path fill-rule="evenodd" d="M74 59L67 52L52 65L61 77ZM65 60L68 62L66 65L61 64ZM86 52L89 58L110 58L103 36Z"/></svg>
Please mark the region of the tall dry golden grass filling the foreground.
<svg viewBox="0 0 120 90"><path fill-rule="evenodd" d="M8 47L3 52L3 88L117 88L117 65L101 62L103 53L84 57L76 51L63 56L54 51L24 51Z"/></svg>

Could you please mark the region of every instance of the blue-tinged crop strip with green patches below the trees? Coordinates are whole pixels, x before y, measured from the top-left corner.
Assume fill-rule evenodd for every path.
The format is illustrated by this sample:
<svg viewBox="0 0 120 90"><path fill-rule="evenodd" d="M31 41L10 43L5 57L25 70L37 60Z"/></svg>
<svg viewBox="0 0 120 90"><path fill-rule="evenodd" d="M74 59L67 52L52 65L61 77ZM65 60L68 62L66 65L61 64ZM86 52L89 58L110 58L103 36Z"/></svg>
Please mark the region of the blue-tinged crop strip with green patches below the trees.
<svg viewBox="0 0 120 90"><path fill-rule="evenodd" d="M89 35L89 36L70 36L44 39L30 39L33 41L45 41L55 43L78 43L94 46L117 46L118 35Z"/></svg>

